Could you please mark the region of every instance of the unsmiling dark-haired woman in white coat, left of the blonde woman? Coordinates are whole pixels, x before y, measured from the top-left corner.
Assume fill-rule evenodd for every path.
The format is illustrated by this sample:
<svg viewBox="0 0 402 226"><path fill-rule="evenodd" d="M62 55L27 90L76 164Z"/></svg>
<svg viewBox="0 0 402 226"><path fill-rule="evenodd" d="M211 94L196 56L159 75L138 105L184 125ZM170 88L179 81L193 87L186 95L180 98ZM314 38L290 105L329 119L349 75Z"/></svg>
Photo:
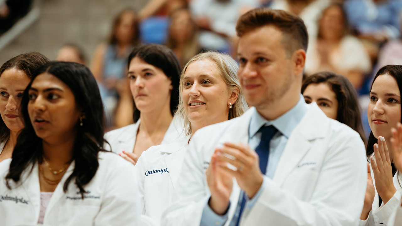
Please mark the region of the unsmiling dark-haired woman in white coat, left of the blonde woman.
<svg viewBox="0 0 402 226"><path fill-rule="evenodd" d="M105 139L112 152L135 164L142 152L176 141L183 131L174 117L181 70L174 52L163 45L135 47L128 62L135 123L108 132Z"/></svg>

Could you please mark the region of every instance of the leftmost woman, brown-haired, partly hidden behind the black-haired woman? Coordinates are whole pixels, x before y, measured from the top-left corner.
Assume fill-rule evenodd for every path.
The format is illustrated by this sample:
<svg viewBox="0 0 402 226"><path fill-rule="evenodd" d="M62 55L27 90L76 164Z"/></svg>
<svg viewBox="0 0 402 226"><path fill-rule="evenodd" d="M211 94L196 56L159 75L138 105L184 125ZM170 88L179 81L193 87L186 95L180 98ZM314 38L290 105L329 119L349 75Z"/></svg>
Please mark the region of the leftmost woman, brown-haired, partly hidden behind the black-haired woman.
<svg viewBox="0 0 402 226"><path fill-rule="evenodd" d="M37 52L17 55L0 67L0 162L11 158L18 132L24 127L20 115L23 91L38 68L49 59Z"/></svg>

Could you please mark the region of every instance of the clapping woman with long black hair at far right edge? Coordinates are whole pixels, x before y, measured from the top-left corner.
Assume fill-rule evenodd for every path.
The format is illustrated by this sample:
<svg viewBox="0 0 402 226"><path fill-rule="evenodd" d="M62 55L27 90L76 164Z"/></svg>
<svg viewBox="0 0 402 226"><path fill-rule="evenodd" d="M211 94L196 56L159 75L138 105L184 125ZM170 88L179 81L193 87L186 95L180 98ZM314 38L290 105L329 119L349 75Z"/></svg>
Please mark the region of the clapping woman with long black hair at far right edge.
<svg viewBox="0 0 402 226"><path fill-rule="evenodd" d="M367 190L360 225L392 225L402 193L402 174L392 153L392 131L401 122L402 65L382 67L373 80L367 118Z"/></svg>

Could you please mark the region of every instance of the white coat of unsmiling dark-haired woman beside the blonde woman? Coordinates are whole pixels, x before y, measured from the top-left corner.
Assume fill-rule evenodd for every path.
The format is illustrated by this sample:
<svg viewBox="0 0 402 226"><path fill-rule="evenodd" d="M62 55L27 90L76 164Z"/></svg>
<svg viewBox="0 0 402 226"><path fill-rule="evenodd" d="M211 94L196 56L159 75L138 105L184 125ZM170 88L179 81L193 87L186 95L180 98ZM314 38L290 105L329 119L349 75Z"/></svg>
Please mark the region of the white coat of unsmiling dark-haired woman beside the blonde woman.
<svg viewBox="0 0 402 226"><path fill-rule="evenodd" d="M110 146L105 144L104 148L117 154L123 153L123 150L133 152L139 123L141 123L141 119L138 119L136 123L131 125L107 132L105 134L105 140L109 142ZM174 116L160 144L175 142L181 135L183 135L183 119Z"/></svg>

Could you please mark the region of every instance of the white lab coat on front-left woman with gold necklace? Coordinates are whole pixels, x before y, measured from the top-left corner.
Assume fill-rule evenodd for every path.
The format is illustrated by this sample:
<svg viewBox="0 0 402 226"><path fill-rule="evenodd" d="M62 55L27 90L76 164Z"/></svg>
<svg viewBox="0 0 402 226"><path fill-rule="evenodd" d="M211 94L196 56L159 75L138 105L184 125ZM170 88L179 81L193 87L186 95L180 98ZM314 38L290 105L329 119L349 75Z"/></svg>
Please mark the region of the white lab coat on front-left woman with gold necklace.
<svg viewBox="0 0 402 226"><path fill-rule="evenodd" d="M0 225L36 225L41 207L38 164L25 171L22 183L7 189L5 175L11 158L0 162ZM44 225L50 226L138 226L138 181L133 164L112 152L99 152L99 167L88 192L81 194L74 180L63 191L64 182L74 170L74 161L68 167L47 205ZM13 181L11 181L13 182ZM13 183L12 183L13 184Z"/></svg>

